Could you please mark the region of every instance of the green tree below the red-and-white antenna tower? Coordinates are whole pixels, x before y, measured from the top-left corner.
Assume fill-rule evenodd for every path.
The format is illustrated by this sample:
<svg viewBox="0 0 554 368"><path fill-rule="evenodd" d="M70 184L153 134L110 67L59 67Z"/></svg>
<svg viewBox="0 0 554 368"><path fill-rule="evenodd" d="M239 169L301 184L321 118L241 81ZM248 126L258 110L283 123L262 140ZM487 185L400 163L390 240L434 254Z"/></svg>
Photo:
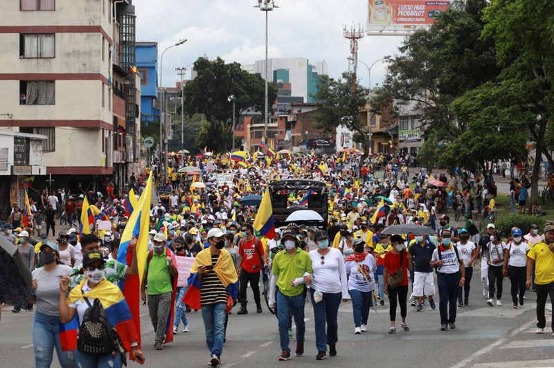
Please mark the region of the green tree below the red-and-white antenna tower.
<svg viewBox="0 0 554 368"><path fill-rule="evenodd" d="M319 115L314 127L325 133L334 132L342 125L355 132L364 147L364 158L369 154L369 137L366 122L359 118L359 111L366 107L369 90L354 83L353 73L343 73L334 80L321 76L314 95Z"/></svg>

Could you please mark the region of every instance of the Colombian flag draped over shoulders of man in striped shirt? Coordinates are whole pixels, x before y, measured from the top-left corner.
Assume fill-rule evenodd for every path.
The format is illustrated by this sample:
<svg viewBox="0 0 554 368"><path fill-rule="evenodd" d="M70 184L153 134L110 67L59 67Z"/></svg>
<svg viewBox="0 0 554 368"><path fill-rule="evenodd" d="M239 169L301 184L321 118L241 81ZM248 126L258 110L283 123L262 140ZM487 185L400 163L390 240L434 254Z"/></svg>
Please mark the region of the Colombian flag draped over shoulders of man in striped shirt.
<svg viewBox="0 0 554 368"><path fill-rule="evenodd" d="M183 302L188 304L192 309L202 309L200 306L200 289L202 288L202 279L198 277L199 266L211 266L212 257L210 248L201 250L195 258L195 263L190 268L190 276L188 277L188 290L183 297ZM223 286L231 299L235 300L238 297L238 277L237 271L233 264L231 254L223 248L220 252L220 257L217 258L213 272L219 277Z"/></svg>

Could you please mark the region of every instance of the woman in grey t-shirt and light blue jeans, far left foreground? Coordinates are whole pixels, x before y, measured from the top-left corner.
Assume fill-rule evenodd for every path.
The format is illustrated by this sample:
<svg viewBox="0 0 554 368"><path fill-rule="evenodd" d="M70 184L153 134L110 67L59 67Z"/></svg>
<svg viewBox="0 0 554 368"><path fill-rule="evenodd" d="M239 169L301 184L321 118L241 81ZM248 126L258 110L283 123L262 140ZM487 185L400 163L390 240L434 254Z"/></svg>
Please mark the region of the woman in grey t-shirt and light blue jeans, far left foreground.
<svg viewBox="0 0 554 368"><path fill-rule="evenodd" d="M73 351L62 351L60 344L60 311L58 310L60 279L71 275L71 267L58 264L59 253L56 244L43 243L39 248L40 264L43 266L32 273L31 297L37 304L37 311L33 318L35 367L50 367L54 349L62 367L75 366ZM38 349L39 347L42 349Z"/></svg>

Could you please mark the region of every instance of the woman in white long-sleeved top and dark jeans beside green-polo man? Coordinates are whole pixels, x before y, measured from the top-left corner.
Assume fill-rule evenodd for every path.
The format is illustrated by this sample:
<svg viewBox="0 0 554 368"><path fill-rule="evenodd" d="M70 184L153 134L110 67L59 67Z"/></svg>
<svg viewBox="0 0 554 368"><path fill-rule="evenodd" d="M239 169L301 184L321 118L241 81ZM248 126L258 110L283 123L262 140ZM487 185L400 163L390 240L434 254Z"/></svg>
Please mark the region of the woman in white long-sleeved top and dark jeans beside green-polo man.
<svg viewBox="0 0 554 368"><path fill-rule="evenodd" d="M350 295L348 295L348 280L341 251L329 247L329 239L324 232L316 232L315 240L318 248L310 252L314 271L310 285L310 299L314 306L318 351L316 359L322 360L327 355L327 344L329 344L329 355L337 355L335 344L339 340L337 324L339 306L341 300L347 302ZM326 331L325 322L327 322Z"/></svg>

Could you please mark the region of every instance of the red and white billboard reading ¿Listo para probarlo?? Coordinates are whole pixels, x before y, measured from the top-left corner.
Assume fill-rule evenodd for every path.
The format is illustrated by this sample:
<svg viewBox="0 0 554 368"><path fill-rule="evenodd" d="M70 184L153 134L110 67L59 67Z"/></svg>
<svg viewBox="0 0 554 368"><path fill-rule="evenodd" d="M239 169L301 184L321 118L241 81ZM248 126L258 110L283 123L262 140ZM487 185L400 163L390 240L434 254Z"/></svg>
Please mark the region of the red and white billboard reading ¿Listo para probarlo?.
<svg viewBox="0 0 554 368"><path fill-rule="evenodd" d="M368 35L406 35L431 26L450 0L369 0Z"/></svg>

